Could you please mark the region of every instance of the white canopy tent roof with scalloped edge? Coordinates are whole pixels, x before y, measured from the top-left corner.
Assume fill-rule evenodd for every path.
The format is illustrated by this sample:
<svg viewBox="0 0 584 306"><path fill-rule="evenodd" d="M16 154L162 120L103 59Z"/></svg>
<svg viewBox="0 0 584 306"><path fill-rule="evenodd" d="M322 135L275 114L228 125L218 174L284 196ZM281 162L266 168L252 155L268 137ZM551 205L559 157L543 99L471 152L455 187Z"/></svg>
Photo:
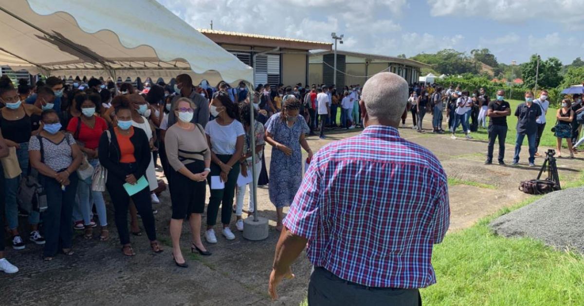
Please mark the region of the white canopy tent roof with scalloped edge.
<svg viewBox="0 0 584 306"><path fill-rule="evenodd" d="M0 24L0 65L15 71L253 83L251 67L155 0L0 0Z"/></svg>

